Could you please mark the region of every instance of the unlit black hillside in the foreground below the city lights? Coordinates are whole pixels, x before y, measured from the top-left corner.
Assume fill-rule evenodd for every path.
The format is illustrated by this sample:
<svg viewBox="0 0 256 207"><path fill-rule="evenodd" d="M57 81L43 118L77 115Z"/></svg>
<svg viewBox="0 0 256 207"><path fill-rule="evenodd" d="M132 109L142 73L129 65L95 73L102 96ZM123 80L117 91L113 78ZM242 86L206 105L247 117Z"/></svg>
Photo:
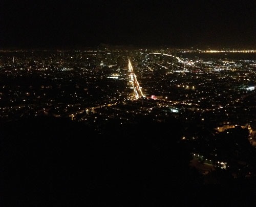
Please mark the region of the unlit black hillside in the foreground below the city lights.
<svg viewBox="0 0 256 207"><path fill-rule="evenodd" d="M1 126L0 206L256 206L253 177L225 170L205 183L179 142L177 122L99 134L69 120Z"/></svg>

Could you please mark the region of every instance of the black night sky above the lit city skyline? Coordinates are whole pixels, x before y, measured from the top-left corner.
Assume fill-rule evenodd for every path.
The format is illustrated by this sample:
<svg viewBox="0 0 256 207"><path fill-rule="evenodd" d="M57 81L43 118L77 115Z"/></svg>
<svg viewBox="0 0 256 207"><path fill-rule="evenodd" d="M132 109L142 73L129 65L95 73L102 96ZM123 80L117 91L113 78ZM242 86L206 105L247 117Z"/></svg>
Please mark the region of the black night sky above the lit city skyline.
<svg viewBox="0 0 256 207"><path fill-rule="evenodd" d="M0 49L256 48L256 1L0 1Z"/></svg>

